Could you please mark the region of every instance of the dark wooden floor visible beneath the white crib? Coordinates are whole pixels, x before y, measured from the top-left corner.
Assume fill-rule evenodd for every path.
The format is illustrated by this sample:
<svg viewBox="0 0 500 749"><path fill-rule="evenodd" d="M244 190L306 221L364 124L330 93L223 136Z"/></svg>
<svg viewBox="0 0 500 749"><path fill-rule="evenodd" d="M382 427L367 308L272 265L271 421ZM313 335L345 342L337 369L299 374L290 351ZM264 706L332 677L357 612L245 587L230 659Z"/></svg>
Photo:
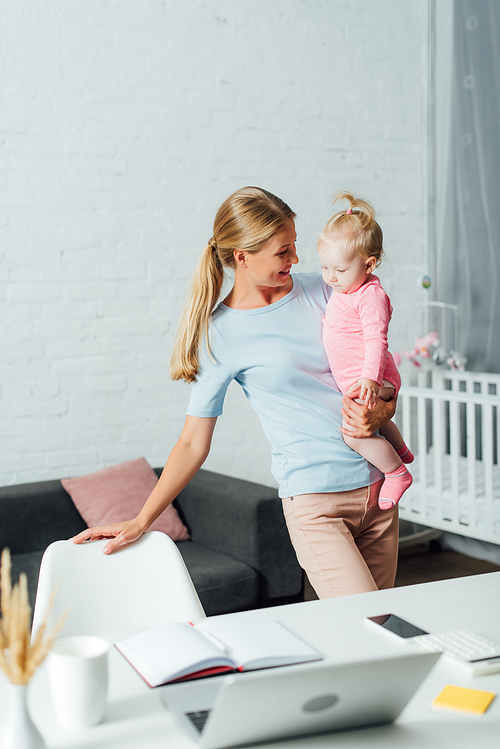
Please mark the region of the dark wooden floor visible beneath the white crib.
<svg viewBox="0 0 500 749"><path fill-rule="evenodd" d="M435 544L434 548L436 547ZM431 551L429 544L421 544L400 550L395 587L449 580L452 577L482 575L485 572L499 570L500 567L490 562L466 557L456 551ZM304 599L310 601L315 598L317 596L306 578Z"/></svg>

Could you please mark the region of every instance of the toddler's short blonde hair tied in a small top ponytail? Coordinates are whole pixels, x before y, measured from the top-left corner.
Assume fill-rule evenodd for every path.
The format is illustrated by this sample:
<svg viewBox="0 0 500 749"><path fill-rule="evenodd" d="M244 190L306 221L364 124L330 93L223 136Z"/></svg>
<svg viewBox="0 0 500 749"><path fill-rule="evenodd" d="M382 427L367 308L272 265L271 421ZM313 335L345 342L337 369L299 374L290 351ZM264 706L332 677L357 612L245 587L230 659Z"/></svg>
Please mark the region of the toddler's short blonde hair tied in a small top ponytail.
<svg viewBox="0 0 500 749"><path fill-rule="evenodd" d="M374 257L380 265L384 256L382 229L375 221L375 209L367 200L355 198L350 192L339 192L334 204L347 200L347 211L339 211L327 222L319 241L328 241L333 234L345 234L346 249L368 260Z"/></svg>

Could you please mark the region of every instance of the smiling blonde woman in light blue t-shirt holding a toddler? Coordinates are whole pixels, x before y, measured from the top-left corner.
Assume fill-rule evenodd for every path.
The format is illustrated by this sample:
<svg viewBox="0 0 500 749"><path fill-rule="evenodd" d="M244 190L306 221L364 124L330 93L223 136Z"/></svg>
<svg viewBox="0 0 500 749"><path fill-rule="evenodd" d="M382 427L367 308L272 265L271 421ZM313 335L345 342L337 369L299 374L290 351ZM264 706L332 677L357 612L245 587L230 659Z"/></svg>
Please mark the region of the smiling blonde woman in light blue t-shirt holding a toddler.
<svg viewBox="0 0 500 749"><path fill-rule="evenodd" d="M298 263L295 214L266 190L246 187L217 212L194 272L171 375L192 382L188 415L154 491L136 518L75 537L110 538L104 552L141 536L186 486L210 451L229 383L236 380L271 444L272 471L299 563L320 598L391 587L396 510L377 504L381 474L345 444L369 437L395 402L368 409L344 398L322 346L331 289ZM224 268L234 285L221 302Z"/></svg>

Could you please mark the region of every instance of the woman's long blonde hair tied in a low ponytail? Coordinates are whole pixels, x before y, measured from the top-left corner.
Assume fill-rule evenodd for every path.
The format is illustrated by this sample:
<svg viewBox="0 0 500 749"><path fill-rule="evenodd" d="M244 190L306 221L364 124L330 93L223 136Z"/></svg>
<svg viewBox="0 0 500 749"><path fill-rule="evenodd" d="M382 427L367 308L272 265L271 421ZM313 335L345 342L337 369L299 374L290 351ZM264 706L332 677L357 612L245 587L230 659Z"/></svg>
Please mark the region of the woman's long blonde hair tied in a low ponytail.
<svg viewBox="0 0 500 749"><path fill-rule="evenodd" d="M283 200L260 187L243 187L221 205L215 216L213 236L194 270L177 330L170 361L173 380L196 379L203 337L210 354L211 316L222 291L224 267L236 265L234 251L259 252L294 218L295 213Z"/></svg>

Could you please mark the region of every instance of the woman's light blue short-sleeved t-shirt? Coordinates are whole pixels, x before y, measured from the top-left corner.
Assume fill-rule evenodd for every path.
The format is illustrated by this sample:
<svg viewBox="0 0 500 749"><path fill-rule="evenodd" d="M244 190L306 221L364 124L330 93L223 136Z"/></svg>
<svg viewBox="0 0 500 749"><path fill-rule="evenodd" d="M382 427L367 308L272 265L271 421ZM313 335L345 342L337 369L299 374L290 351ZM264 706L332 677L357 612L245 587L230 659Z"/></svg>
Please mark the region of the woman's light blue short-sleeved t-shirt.
<svg viewBox="0 0 500 749"><path fill-rule="evenodd" d="M292 278L292 291L267 307L218 306L210 333L215 361L203 353L188 414L220 416L236 380L271 443L280 497L368 486L382 475L342 439L342 396L323 350L331 289L317 273Z"/></svg>

